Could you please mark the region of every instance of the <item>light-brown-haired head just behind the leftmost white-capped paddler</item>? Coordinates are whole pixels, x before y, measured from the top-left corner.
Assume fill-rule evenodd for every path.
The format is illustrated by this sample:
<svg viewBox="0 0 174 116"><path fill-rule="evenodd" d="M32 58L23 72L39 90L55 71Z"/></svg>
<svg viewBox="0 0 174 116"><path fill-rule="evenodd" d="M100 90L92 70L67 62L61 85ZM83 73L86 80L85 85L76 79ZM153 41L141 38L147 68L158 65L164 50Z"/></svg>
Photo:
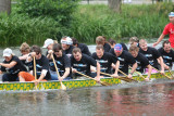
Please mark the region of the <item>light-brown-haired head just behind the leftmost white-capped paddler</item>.
<svg viewBox="0 0 174 116"><path fill-rule="evenodd" d="M20 47L20 51L23 55L28 54L30 52L30 47L26 42L23 42Z"/></svg>

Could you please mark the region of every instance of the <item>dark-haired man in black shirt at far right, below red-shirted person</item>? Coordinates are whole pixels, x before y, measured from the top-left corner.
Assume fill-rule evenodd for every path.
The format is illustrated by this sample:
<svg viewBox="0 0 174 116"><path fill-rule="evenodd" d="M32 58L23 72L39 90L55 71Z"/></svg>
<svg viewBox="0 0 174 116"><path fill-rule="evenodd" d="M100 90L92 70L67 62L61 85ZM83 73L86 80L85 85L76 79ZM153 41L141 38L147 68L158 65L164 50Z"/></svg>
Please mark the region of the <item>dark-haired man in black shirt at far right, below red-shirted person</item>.
<svg viewBox="0 0 174 116"><path fill-rule="evenodd" d="M171 42L169 40L165 40L162 43L162 48L158 49L159 53L163 57L164 61L164 68L165 69L172 69L173 62L174 62L174 51L171 48Z"/></svg>

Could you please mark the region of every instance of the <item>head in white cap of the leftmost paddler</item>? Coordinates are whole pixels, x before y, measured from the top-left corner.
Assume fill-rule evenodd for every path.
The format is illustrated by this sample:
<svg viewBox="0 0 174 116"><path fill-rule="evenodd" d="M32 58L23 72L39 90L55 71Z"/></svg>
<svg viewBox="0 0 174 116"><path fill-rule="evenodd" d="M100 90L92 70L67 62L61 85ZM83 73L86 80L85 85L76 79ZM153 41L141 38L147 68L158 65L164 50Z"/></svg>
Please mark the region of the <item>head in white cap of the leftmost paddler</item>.
<svg viewBox="0 0 174 116"><path fill-rule="evenodd" d="M7 48L3 50L3 57L7 62L9 62L13 56L13 52L11 49Z"/></svg>

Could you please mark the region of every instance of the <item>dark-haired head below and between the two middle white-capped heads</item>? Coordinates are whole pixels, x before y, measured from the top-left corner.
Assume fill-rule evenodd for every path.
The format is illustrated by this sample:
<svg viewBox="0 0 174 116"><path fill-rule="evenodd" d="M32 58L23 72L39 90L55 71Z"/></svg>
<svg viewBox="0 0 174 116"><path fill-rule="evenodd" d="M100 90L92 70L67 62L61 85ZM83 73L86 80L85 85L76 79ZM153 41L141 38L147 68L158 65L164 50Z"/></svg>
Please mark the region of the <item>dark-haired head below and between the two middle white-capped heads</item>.
<svg viewBox="0 0 174 116"><path fill-rule="evenodd" d="M60 43L54 43L52 50L53 50L53 53L57 55L57 57L62 56L62 47Z"/></svg>

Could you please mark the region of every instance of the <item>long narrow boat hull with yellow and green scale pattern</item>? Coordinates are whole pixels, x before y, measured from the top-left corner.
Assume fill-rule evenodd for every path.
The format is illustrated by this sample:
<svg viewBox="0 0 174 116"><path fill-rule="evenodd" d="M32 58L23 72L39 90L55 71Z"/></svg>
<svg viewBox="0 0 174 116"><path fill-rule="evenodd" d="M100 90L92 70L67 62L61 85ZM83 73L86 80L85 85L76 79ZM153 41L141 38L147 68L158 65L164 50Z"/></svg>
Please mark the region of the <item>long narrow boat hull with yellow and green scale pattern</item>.
<svg viewBox="0 0 174 116"><path fill-rule="evenodd" d="M166 75L171 76L169 72L165 72ZM147 75L144 75L145 77ZM161 74L152 74L151 78L166 78ZM142 81L144 79L138 76L134 76L133 79L138 81ZM122 83L122 81L117 78L105 77L101 78L102 81L107 81L111 85ZM91 79L75 79L75 80L64 80L62 81L67 89L72 88L83 88L83 87L92 87L92 86L101 86L97 83L95 80ZM34 82L1 82L0 83L0 91L29 91L35 90ZM59 81L42 81L37 86L38 90L52 90L52 89L61 89L61 85Z"/></svg>

